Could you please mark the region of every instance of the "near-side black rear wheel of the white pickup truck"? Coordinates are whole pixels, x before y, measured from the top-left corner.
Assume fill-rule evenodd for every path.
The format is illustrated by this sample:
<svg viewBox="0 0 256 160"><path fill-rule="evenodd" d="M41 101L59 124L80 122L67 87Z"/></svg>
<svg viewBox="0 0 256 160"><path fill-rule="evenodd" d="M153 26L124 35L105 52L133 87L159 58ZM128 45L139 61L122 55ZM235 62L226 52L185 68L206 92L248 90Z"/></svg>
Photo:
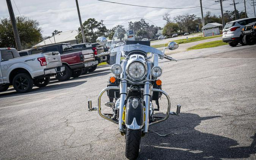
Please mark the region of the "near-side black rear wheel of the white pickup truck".
<svg viewBox="0 0 256 160"><path fill-rule="evenodd" d="M13 78L13 88L19 93L26 93L33 88L33 80L26 73L19 73Z"/></svg>

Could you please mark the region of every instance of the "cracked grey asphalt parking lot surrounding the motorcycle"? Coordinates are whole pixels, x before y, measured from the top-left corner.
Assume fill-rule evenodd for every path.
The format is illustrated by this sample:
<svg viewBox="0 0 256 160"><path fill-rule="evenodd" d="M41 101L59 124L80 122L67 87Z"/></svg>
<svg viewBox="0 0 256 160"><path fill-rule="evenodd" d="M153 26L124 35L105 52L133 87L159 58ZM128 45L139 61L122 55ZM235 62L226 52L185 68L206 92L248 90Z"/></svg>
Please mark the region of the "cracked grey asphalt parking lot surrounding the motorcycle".
<svg viewBox="0 0 256 160"><path fill-rule="evenodd" d="M192 50L162 61L171 116L141 140L140 160L256 159L256 45ZM126 159L118 126L88 112L110 71L101 66L30 93L0 93L0 159Z"/></svg>

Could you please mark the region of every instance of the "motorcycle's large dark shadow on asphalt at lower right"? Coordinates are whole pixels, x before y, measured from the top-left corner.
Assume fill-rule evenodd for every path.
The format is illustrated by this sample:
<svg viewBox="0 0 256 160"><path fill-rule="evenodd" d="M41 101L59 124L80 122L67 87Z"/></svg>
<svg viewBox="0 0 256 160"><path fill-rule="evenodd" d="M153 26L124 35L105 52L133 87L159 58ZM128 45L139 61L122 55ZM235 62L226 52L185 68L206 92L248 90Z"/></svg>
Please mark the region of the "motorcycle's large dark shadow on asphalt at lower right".
<svg viewBox="0 0 256 160"><path fill-rule="evenodd" d="M160 137L149 132L141 140L139 160L163 159L221 159L247 158L256 153L256 135L250 146L236 147L236 140L224 136L199 132L195 129L201 121L219 116L200 117L184 113L176 118L169 118L160 125L152 127L162 134L177 134ZM216 125L214 125L216 126ZM207 129L211 129L207 126ZM180 133L179 133L180 132Z"/></svg>

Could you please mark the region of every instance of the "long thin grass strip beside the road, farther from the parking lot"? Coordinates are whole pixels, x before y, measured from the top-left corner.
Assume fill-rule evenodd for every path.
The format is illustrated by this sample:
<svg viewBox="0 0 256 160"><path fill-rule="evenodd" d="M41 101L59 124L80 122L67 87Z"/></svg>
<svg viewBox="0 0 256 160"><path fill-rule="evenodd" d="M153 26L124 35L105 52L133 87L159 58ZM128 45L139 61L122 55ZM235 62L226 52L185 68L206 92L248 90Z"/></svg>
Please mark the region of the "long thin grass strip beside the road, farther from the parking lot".
<svg viewBox="0 0 256 160"><path fill-rule="evenodd" d="M217 36L210 36L210 37L194 37L194 38L188 38L187 39L178 39L177 42L178 44L185 44L185 43L190 43L190 42L196 42L196 41L203 41L205 39L212 39L212 38L217 38L217 37L221 37L222 35L217 35ZM169 42L173 42L173 41L169 41ZM165 43L165 47L167 47L168 43ZM154 48L159 48L159 47L163 47L163 44L157 44L157 45L151 45L151 47Z"/></svg>

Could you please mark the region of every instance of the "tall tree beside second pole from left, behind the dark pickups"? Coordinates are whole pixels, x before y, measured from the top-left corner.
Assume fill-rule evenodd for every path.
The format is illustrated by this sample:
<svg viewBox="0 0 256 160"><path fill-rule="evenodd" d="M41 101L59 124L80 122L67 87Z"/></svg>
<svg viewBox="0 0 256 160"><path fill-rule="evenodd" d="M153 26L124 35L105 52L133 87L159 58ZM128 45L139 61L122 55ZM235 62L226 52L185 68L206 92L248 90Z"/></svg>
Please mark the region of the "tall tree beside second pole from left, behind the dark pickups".
<svg viewBox="0 0 256 160"><path fill-rule="evenodd" d="M85 32L85 39L91 43L96 42L96 39L99 36L104 36L104 33L107 33L108 30L105 26L101 26L101 23L94 18L89 18L83 22L83 30ZM82 32L81 28L78 28L78 35L75 37L78 42L82 42Z"/></svg>

